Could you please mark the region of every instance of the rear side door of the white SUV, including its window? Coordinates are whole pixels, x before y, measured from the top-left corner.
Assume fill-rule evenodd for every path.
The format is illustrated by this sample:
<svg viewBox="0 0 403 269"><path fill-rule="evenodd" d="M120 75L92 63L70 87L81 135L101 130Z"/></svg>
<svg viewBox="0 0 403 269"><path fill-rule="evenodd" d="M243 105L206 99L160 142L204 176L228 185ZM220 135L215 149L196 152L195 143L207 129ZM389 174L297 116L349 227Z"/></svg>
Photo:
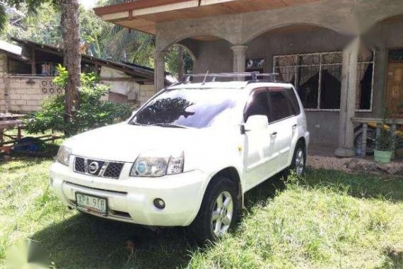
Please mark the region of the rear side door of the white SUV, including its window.
<svg viewBox="0 0 403 269"><path fill-rule="evenodd" d="M290 154L293 154L291 145L296 131L297 122L295 112L283 87L269 88L269 108L271 143L274 144L276 171L279 172L289 166Z"/></svg>

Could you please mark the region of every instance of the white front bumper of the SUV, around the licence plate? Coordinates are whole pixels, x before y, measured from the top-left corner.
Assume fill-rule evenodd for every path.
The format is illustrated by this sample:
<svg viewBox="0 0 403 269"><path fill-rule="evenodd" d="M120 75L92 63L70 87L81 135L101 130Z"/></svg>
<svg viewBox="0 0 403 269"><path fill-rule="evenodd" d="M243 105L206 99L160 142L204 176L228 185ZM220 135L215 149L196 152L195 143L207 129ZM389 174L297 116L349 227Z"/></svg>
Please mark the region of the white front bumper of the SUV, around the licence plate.
<svg viewBox="0 0 403 269"><path fill-rule="evenodd" d="M129 170L131 164L125 166ZM197 170L160 178L100 178L74 173L71 166L56 162L50 168L49 183L70 207L76 207L76 192L86 193L107 198L107 219L169 227L192 223L208 179L207 174ZM153 205L156 198L165 201L163 210Z"/></svg>

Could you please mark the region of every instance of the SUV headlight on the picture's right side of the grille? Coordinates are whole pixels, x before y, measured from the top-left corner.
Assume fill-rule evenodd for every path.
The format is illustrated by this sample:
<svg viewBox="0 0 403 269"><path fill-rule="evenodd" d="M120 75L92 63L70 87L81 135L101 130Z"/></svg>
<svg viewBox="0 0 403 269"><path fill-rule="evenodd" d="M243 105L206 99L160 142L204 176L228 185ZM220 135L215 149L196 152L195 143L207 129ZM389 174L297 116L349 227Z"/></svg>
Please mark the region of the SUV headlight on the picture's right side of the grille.
<svg viewBox="0 0 403 269"><path fill-rule="evenodd" d="M158 177L183 172L183 151L170 156L153 153L140 155L130 171L130 176Z"/></svg>

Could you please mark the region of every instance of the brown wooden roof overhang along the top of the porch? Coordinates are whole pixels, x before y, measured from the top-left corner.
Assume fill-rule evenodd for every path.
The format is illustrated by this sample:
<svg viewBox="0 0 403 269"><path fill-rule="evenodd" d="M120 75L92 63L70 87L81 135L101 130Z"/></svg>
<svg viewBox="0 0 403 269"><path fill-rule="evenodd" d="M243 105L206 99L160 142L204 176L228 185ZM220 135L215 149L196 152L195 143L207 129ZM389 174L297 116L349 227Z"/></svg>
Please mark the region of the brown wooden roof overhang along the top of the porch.
<svg viewBox="0 0 403 269"><path fill-rule="evenodd" d="M320 0L136 0L94 8L117 25L155 34L156 24L209 16L286 8Z"/></svg>

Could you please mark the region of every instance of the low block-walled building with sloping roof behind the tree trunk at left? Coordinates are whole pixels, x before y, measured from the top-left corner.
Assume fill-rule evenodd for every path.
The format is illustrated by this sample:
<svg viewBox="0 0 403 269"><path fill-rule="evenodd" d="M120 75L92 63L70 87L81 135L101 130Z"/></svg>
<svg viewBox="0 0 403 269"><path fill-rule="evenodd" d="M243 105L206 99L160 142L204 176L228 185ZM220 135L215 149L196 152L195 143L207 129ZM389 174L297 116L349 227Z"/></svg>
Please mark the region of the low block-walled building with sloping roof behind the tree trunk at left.
<svg viewBox="0 0 403 269"><path fill-rule="evenodd" d="M28 113L40 108L47 97L63 93L53 79L65 55L60 47L12 40L18 45L0 40L0 112ZM81 69L97 73L101 83L110 85L107 100L136 106L154 94L151 68L82 55Z"/></svg>

